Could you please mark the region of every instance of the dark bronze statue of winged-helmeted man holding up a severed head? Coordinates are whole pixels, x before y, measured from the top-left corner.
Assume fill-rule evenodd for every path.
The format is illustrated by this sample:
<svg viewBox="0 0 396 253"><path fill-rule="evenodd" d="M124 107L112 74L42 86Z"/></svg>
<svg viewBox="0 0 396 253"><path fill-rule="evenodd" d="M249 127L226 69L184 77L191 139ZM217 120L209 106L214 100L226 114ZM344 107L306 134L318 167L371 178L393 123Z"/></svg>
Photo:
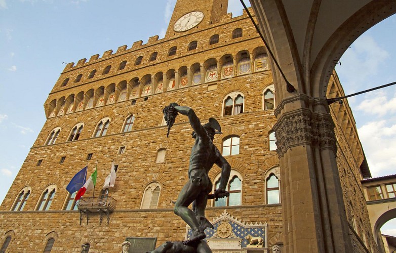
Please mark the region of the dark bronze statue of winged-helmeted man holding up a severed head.
<svg viewBox="0 0 396 253"><path fill-rule="evenodd" d="M221 134L221 127L215 118L209 118L209 122L201 125L200 119L195 112L187 106L179 106L177 103L171 103L164 108L165 120L170 122L169 129L174 122L177 113L186 115L192 126L192 137L195 143L192 146L190 163L188 168L188 181L179 193L175 203L174 212L180 216L192 229L191 237L184 241L189 244L204 239L204 230L207 227L213 228L213 225L205 218L205 207L208 202L208 194L212 191L212 182L208 173L212 166L216 164L221 167L221 178L219 189L213 194L214 198L223 198L228 196L225 191L231 167L227 160L221 155L220 151L213 144L215 134ZM171 113L170 113L171 112ZM173 115L173 116L172 116ZM192 210L188 206L192 203Z"/></svg>

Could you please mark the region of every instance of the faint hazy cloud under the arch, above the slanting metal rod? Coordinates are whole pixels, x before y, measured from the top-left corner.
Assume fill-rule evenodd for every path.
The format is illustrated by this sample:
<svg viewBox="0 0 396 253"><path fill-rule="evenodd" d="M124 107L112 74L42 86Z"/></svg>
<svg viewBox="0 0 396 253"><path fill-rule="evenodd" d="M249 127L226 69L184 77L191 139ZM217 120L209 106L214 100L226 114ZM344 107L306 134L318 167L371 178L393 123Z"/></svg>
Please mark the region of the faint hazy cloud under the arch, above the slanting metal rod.
<svg viewBox="0 0 396 253"><path fill-rule="evenodd" d="M376 75L389 57L390 54L372 36L363 34L345 51L341 57L342 65L337 65L336 69L342 76L344 87L353 91L364 90L362 88L377 86L369 77Z"/></svg>

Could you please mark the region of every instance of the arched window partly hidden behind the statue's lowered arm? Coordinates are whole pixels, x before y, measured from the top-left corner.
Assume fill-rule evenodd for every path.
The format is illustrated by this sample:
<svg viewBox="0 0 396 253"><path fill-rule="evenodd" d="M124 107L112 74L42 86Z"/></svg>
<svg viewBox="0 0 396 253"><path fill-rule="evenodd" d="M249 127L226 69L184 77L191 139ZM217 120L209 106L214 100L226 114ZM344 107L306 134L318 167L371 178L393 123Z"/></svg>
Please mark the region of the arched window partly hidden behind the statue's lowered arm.
<svg viewBox="0 0 396 253"><path fill-rule="evenodd" d="M214 182L214 191L219 188L220 175L217 175ZM214 192L213 191L213 192ZM231 170L226 191L229 192L229 197L219 198L214 202L214 206L233 206L242 204L242 176L235 170Z"/></svg>

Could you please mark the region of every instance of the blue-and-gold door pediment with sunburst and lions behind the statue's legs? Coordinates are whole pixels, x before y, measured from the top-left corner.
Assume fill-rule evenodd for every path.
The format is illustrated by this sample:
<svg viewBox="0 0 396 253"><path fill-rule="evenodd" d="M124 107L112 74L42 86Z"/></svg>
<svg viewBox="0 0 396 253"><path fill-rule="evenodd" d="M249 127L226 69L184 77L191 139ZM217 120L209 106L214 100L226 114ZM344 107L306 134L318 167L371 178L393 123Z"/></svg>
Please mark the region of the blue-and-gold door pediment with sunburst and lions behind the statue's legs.
<svg viewBox="0 0 396 253"><path fill-rule="evenodd" d="M261 252L267 252L267 223L246 224L230 216L225 209L220 217L210 222L214 229L205 229L205 240L213 252L230 249L242 250L244 248L260 248ZM192 230L187 225L185 240L190 238L191 233Z"/></svg>

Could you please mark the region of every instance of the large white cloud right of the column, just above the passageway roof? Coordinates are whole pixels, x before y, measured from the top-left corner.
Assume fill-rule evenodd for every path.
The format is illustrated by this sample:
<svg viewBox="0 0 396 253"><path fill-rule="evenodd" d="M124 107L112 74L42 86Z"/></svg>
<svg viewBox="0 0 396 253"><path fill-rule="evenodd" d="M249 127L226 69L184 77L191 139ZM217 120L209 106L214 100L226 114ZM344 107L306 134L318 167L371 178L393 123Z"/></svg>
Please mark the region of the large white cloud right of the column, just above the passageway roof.
<svg viewBox="0 0 396 253"><path fill-rule="evenodd" d="M394 122L391 122L394 121ZM394 174L396 166L396 120L367 122L358 129L373 177Z"/></svg>

